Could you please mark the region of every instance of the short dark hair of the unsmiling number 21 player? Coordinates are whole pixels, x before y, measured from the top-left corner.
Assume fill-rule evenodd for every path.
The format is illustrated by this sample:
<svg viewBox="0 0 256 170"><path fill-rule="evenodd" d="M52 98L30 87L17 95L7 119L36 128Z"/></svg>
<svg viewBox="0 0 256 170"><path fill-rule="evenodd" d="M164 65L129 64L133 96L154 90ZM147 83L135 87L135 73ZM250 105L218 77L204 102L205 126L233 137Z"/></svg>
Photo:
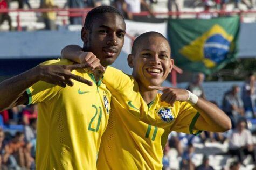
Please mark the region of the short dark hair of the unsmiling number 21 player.
<svg viewBox="0 0 256 170"><path fill-rule="evenodd" d="M87 13L84 24L85 29L91 29L93 21L98 17L102 16L103 13L116 13L117 15L121 16L124 20L122 13L113 6L99 6Z"/></svg>

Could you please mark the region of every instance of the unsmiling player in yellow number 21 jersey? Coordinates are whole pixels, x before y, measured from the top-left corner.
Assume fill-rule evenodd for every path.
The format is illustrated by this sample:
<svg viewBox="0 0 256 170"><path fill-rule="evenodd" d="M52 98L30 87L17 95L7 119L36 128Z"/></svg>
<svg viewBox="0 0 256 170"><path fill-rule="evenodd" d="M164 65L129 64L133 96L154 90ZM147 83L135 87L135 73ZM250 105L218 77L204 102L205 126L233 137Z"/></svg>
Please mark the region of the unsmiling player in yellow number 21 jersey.
<svg viewBox="0 0 256 170"><path fill-rule="evenodd" d="M121 52L125 29L123 16L115 8L95 8L87 14L81 38L84 49L100 60L95 55L84 65L50 60L0 83L0 110L39 103L37 169L96 169L111 97L101 83L103 66L113 63Z"/></svg>

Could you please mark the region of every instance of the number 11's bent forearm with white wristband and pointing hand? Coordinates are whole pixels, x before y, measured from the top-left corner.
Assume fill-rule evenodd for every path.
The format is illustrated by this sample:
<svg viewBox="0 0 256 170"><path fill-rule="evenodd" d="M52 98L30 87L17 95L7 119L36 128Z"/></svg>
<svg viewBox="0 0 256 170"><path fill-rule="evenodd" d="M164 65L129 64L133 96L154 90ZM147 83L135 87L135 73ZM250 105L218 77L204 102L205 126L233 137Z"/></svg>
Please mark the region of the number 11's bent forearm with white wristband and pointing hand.
<svg viewBox="0 0 256 170"><path fill-rule="evenodd" d="M222 110L203 98L197 98L196 95L188 90L160 86L150 86L150 88L162 91L161 100L171 105L173 105L175 101L191 103L200 113L195 123L197 130L225 132L231 129L230 118Z"/></svg>

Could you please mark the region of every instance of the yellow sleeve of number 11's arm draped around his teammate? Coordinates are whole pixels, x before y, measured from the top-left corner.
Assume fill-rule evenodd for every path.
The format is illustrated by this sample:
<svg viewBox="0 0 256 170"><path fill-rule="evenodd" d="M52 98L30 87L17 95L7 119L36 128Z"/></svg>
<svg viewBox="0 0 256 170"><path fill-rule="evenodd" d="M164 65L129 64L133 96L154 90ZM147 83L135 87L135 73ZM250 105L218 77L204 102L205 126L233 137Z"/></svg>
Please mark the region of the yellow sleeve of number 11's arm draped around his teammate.
<svg viewBox="0 0 256 170"><path fill-rule="evenodd" d="M134 79L121 70L108 66L104 73L103 83L106 84L111 93L114 93L125 87L130 87L129 85L134 83Z"/></svg>

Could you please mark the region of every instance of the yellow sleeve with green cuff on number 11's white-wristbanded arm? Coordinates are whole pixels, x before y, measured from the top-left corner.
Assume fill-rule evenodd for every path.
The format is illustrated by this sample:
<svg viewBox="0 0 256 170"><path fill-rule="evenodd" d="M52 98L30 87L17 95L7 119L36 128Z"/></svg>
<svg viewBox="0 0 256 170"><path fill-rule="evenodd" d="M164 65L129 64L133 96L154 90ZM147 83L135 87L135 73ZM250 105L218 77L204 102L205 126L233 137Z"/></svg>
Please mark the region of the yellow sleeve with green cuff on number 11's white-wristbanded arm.
<svg viewBox="0 0 256 170"><path fill-rule="evenodd" d="M171 131L195 135L200 134L202 131L195 129L195 124L199 116L199 112L191 104L181 102L174 125L171 126Z"/></svg>

